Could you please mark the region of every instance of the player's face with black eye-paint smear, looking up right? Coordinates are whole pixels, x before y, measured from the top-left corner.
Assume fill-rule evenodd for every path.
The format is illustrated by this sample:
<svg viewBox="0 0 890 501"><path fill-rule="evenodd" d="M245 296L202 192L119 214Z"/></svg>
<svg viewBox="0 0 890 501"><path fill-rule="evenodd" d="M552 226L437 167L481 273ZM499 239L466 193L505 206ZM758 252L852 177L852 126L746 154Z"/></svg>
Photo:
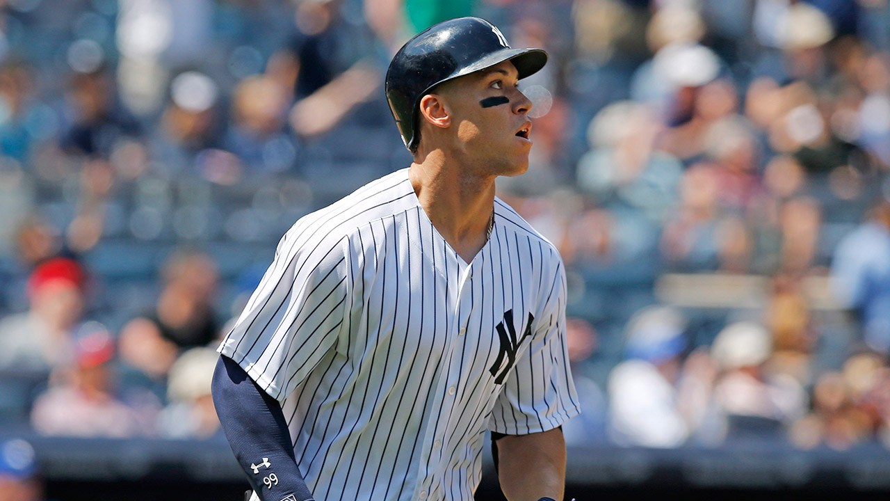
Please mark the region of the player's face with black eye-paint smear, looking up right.
<svg viewBox="0 0 890 501"><path fill-rule="evenodd" d="M469 166L518 176L529 168L531 109L512 62L454 80L449 92L457 144Z"/></svg>

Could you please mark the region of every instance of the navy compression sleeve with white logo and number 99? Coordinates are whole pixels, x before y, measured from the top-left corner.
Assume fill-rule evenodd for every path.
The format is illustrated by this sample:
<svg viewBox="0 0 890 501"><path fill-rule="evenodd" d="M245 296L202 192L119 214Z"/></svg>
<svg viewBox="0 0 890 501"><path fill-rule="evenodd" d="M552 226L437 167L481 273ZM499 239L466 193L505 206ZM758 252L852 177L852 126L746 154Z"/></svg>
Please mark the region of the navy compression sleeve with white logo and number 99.
<svg viewBox="0 0 890 501"><path fill-rule="evenodd" d="M271 398L229 357L220 356L213 398L225 436L263 501L306 501L312 493L296 465L287 420Z"/></svg>

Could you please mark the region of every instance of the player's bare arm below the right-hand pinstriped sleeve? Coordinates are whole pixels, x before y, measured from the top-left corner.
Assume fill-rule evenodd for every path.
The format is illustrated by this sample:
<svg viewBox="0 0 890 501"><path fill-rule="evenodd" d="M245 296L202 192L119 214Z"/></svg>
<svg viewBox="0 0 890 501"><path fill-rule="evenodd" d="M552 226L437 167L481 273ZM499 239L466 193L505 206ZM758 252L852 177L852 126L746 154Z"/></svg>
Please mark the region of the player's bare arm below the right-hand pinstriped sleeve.
<svg viewBox="0 0 890 501"><path fill-rule="evenodd" d="M528 435L493 434L498 479L509 501L562 500L565 440L562 428Z"/></svg>

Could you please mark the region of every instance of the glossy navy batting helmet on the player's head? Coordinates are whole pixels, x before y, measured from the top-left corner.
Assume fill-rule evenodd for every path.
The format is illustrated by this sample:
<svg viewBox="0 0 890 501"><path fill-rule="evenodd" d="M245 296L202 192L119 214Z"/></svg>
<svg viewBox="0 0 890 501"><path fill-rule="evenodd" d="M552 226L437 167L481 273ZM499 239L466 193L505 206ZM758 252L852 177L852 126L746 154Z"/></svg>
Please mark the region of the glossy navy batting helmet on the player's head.
<svg viewBox="0 0 890 501"><path fill-rule="evenodd" d="M386 101L411 150L417 144L417 106L434 86L510 60L519 78L544 67L541 49L514 49L489 21L466 17L442 21L402 45L386 71Z"/></svg>

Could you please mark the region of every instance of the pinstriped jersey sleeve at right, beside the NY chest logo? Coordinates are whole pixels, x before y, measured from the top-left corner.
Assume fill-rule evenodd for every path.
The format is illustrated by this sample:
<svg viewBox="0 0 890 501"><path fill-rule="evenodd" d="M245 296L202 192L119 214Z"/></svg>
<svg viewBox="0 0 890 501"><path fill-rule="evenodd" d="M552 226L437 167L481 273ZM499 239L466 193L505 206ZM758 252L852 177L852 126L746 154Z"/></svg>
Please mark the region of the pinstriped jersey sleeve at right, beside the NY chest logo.
<svg viewBox="0 0 890 501"><path fill-rule="evenodd" d="M552 430L580 413L569 366L565 272L560 262L531 342L504 381L489 430L525 435ZM537 318L536 318L537 319Z"/></svg>

